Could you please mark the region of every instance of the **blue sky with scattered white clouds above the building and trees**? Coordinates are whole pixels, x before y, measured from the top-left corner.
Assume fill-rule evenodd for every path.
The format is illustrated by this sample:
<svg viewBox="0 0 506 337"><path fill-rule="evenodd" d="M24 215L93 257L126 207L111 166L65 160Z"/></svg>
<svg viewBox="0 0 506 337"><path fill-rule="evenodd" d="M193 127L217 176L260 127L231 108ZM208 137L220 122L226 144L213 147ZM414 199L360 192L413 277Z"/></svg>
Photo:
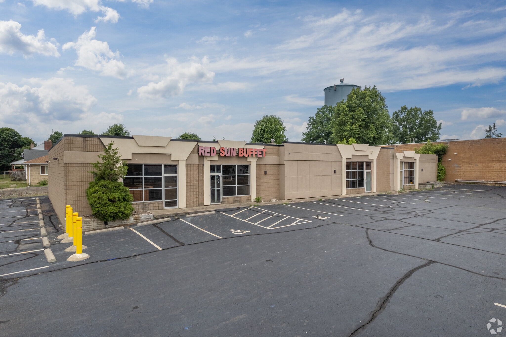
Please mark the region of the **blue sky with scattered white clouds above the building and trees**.
<svg viewBox="0 0 506 337"><path fill-rule="evenodd" d="M506 3L0 0L0 127L299 141L323 89L375 85L442 138L506 134Z"/></svg>

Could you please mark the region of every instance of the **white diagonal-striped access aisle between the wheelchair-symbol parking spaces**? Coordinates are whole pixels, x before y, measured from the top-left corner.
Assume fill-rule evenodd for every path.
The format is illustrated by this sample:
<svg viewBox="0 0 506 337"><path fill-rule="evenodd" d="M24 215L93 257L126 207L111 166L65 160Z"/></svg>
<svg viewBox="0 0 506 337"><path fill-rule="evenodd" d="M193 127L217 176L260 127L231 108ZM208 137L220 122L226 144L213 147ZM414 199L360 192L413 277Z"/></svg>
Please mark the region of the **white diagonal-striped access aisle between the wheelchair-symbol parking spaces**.
<svg viewBox="0 0 506 337"><path fill-rule="evenodd" d="M311 222L310 220L290 217L257 206L245 207L241 210L231 210L229 212L223 212L223 214L266 229L275 229Z"/></svg>

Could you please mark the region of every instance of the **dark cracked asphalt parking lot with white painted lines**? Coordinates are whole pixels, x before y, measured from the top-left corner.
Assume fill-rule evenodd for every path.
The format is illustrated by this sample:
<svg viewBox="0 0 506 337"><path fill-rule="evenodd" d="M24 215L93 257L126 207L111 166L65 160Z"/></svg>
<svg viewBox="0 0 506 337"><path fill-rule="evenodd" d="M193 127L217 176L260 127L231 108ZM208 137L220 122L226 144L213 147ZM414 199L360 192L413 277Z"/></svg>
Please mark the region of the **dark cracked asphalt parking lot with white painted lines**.
<svg viewBox="0 0 506 337"><path fill-rule="evenodd" d="M452 185L223 208L85 235L77 263L47 197L55 263L35 198L0 200L0 334L503 333L504 196Z"/></svg>

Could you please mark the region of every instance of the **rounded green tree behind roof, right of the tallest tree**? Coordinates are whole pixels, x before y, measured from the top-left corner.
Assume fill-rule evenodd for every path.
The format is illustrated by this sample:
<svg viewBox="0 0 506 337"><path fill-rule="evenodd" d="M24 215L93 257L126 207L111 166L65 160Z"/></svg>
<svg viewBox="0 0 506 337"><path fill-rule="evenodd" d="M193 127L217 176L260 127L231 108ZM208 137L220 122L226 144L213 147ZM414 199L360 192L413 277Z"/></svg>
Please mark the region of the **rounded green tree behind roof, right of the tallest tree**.
<svg viewBox="0 0 506 337"><path fill-rule="evenodd" d="M441 136L441 123L438 124L432 110L402 106L392 114L392 137L395 143L435 142Z"/></svg>

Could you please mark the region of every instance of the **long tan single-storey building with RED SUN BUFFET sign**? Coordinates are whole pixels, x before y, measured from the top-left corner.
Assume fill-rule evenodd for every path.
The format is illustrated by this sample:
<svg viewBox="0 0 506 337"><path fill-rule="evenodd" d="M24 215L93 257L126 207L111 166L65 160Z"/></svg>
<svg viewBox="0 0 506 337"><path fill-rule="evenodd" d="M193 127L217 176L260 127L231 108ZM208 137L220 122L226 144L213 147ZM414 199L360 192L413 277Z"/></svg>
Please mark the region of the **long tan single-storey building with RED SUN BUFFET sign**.
<svg viewBox="0 0 506 337"><path fill-rule="evenodd" d="M392 147L64 135L48 153L49 197L60 221L66 204L92 215L90 163L111 142L129 165L123 185L139 211L386 192L436 180L436 155Z"/></svg>

